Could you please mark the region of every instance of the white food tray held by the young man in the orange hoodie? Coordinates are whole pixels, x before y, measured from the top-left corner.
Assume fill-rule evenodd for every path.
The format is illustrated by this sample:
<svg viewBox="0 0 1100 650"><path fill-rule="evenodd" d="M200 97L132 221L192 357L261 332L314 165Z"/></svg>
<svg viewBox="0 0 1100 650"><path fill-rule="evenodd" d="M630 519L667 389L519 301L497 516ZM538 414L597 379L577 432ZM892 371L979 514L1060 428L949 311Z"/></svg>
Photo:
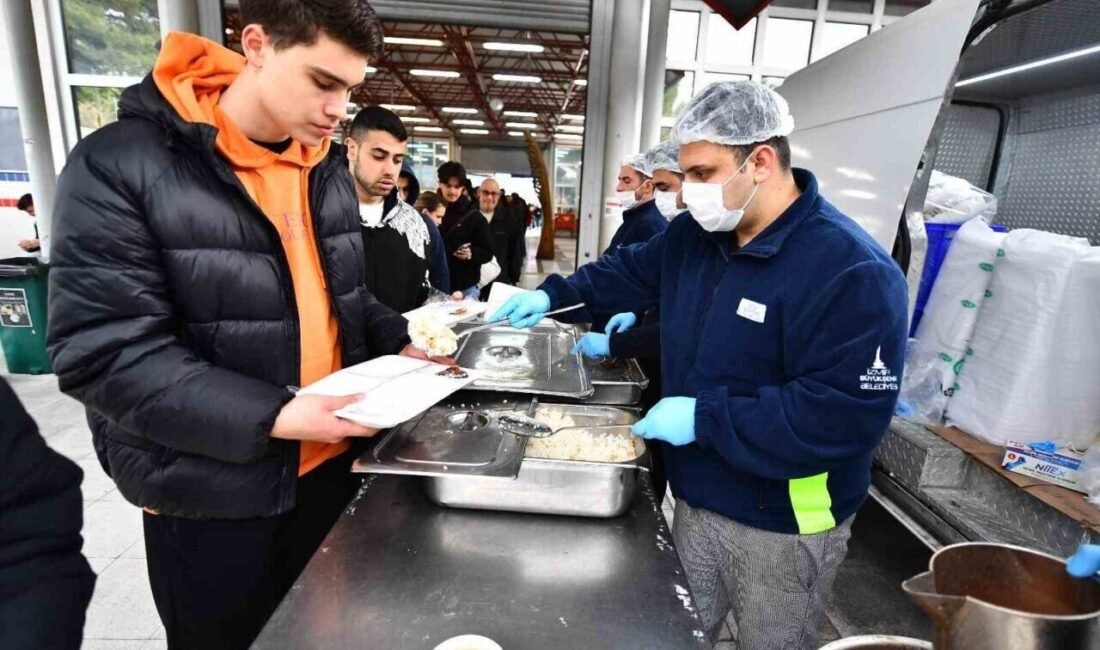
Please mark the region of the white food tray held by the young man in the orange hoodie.
<svg viewBox="0 0 1100 650"><path fill-rule="evenodd" d="M364 399L334 415L364 427L388 429L428 410L477 377L476 371L389 355L333 373L299 394L341 397L362 393Z"/></svg>

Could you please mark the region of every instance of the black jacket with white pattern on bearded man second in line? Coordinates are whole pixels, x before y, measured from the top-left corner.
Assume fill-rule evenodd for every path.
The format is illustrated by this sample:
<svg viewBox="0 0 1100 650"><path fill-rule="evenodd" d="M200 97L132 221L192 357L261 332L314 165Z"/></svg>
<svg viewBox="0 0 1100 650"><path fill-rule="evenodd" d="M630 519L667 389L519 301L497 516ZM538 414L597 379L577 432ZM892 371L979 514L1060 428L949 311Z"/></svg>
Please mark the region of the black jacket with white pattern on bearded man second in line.
<svg viewBox="0 0 1100 650"><path fill-rule="evenodd" d="M397 192L386 197L382 214L378 227L361 225L366 288L380 302L404 313L422 305L428 297L431 231L424 216L398 199Z"/></svg>

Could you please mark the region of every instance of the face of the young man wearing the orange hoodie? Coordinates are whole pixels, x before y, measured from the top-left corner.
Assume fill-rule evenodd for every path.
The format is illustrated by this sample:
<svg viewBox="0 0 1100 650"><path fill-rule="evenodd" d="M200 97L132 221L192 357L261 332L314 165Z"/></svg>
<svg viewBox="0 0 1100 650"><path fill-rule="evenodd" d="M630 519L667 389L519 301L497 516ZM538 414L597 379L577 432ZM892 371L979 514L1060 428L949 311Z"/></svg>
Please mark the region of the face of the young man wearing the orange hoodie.
<svg viewBox="0 0 1100 650"><path fill-rule="evenodd" d="M241 43L257 70L257 110L265 119L307 146L336 132L346 117L351 89L366 74L366 55L323 32L310 45L275 49L260 25L245 27Z"/></svg>

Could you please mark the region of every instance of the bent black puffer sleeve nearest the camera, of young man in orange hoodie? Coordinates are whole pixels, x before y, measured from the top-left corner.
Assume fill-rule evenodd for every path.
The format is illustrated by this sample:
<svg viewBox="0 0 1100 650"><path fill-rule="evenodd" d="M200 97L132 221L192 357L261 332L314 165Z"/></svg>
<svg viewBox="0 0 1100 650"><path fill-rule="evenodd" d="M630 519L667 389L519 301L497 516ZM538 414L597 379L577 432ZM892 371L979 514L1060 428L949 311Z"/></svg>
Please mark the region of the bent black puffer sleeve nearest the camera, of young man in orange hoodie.
<svg viewBox="0 0 1100 650"><path fill-rule="evenodd" d="M262 458L285 387L213 366L179 339L141 184L92 157L57 186L47 345L61 388L124 431L220 461Z"/></svg>

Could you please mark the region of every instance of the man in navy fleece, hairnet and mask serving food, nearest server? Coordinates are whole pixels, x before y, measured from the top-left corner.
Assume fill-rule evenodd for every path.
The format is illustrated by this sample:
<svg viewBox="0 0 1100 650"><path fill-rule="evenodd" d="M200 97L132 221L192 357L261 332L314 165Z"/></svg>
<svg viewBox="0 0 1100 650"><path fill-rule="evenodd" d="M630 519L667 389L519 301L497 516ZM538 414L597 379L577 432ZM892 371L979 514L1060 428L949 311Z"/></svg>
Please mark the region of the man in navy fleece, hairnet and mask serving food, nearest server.
<svg viewBox="0 0 1100 650"><path fill-rule="evenodd" d="M816 648L824 603L898 400L905 278L791 169L787 101L708 86L676 120L689 214L649 242L549 277L492 319L553 307L661 309L661 440L673 538L700 617L746 649Z"/></svg>

